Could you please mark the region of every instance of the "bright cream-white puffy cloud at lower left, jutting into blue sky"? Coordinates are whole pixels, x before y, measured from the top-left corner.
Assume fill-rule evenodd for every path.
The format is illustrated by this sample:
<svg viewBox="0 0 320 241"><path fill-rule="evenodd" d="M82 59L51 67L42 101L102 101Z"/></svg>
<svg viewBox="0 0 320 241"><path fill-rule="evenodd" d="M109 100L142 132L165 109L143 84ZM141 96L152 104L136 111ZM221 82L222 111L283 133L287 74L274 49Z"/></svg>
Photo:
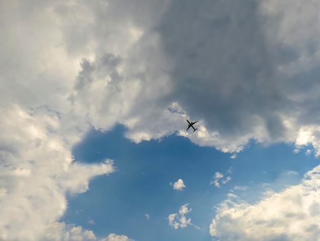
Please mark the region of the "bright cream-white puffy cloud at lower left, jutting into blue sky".
<svg viewBox="0 0 320 241"><path fill-rule="evenodd" d="M65 120L54 112L27 112L9 104L2 111L0 239L60 240L65 235L64 224L58 223L67 208L65 195L85 192L90 178L114 171L113 162L75 162L71 145L77 136L74 130L64 132L60 125Z"/></svg>

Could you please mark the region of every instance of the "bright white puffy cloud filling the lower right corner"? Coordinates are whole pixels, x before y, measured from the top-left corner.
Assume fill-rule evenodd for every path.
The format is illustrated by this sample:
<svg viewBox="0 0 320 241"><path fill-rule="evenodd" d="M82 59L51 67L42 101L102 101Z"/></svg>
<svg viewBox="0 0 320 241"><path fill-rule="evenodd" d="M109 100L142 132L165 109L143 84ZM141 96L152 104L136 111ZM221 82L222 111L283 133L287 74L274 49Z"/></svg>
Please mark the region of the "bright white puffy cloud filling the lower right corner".
<svg viewBox="0 0 320 241"><path fill-rule="evenodd" d="M317 240L320 235L320 167L300 185L254 205L235 194L217 207L210 233L220 240Z"/></svg>

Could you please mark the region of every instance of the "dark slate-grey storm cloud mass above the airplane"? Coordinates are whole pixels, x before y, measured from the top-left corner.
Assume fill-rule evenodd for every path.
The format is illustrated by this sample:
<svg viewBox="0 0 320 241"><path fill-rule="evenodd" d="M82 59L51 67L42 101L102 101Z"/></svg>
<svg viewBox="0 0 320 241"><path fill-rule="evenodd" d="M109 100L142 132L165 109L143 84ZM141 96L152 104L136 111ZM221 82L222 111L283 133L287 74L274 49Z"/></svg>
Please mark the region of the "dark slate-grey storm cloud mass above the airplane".
<svg viewBox="0 0 320 241"><path fill-rule="evenodd" d="M250 0L178 0L158 26L174 60L173 101L222 135L245 135L261 125L255 115L273 138L283 132L277 111L286 101L272 75L257 9Z"/></svg>

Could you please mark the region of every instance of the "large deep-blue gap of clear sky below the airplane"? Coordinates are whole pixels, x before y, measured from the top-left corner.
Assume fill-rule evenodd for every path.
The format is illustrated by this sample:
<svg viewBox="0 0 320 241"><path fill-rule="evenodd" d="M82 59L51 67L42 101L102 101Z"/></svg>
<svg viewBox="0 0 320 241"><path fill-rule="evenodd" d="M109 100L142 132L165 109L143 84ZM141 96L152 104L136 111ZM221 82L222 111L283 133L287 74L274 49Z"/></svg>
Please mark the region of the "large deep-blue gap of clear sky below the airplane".
<svg viewBox="0 0 320 241"><path fill-rule="evenodd" d="M307 147L294 153L292 144L262 146L250 142L233 159L229 153L199 147L176 135L135 144L124 137L125 131L123 126L106 133L92 130L73 149L79 162L111 158L118 170L95 177L88 191L68 198L62 221L93 230L97 236L122 233L135 240L208 240L214 207L228 193L255 204L266 187L279 192L286 185L299 184L304 173L319 164L313 155L305 154ZM216 172L232 179L220 188L210 185ZM182 191L170 185L179 178L186 186ZM187 217L200 229L170 227L169 214L188 203L192 211Z"/></svg>

